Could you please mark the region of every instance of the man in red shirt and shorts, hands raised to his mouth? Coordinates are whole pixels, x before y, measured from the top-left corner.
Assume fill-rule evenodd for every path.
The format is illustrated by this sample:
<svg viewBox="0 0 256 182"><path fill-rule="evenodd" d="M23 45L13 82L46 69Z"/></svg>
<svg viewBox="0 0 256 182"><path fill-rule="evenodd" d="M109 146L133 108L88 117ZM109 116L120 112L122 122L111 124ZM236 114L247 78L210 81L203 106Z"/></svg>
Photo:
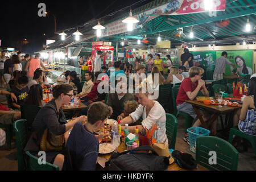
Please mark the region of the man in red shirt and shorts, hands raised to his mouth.
<svg viewBox="0 0 256 182"><path fill-rule="evenodd" d="M199 91L201 91L204 94L204 96L209 97L209 92L205 87L205 82L204 80L201 79L203 77L203 74L204 74L203 68L192 67L191 69L189 69L189 77L185 78L181 82L180 89L176 98L177 110L183 113L188 113L194 119L197 118L197 114L193 109L193 106L191 104L188 104L185 101L195 100ZM207 113L206 111L202 113L202 117L204 121L208 121L210 119L209 116L210 114ZM201 122L199 119L197 119L192 127L198 127L200 125L201 125ZM212 126L211 126L212 135L216 135L216 128L217 128L217 119L212 123ZM188 134L185 134L183 139L185 140L185 142L189 144Z"/></svg>

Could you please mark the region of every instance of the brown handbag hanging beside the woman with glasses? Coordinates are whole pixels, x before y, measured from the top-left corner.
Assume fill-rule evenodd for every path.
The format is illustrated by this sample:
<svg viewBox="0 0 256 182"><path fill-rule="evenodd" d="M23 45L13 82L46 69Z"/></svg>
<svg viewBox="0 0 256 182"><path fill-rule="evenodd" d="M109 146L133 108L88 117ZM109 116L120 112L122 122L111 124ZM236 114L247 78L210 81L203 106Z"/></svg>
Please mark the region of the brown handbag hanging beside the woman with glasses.
<svg viewBox="0 0 256 182"><path fill-rule="evenodd" d="M49 129L44 131L43 137L40 141L40 150L45 152L63 151L64 148L64 134L54 135Z"/></svg>

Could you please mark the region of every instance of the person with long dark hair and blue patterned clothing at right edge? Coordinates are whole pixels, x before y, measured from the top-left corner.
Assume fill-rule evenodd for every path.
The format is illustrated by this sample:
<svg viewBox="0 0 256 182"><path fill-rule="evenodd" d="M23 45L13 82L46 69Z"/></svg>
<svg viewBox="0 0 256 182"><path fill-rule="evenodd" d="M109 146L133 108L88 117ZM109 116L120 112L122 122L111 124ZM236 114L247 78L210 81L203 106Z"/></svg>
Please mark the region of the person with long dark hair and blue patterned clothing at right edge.
<svg viewBox="0 0 256 182"><path fill-rule="evenodd" d="M249 81L248 96L243 100L242 109L234 115L234 126L246 134L256 136L256 77Z"/></svg>

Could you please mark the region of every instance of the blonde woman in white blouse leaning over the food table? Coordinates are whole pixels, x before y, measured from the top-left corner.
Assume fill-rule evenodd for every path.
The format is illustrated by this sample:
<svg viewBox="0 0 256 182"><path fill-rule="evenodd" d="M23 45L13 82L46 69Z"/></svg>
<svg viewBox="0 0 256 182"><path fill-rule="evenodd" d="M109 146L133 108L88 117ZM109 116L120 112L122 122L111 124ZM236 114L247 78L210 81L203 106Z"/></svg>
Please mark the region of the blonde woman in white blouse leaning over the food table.
<svg viewBox="0 0 256 182"><path fill-rule="evenodd" d="M125 124L135 123L139 118L143 118L142 125L138 125L139 133L144 133L144 127L148 130L152 128L152 125L156 123L159 130L156 130L153 138L157 142L166 143L168 146L168 139L166 135L166 111L164 111L162 105L157 101L150 100L150 94L147 93L147 89L142 89L144 86L139 86L139 93L135 95L138 97L139 107L131 113L129 117L122 119L122 130L125 129ZM143 93L142 93L143 92ZM146 94L145 94L146 92ZM137 126L129 126L129 131L135 133Z"/></svg>

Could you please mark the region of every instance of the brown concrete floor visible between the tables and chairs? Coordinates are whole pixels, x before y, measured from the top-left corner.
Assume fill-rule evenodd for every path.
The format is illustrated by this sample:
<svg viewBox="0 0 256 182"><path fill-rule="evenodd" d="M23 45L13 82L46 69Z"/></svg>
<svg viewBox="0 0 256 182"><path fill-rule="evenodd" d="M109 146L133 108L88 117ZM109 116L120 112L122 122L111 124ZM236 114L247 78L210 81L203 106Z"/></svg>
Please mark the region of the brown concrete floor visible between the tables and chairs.
<svg viewBox="0 0 256 182"><path fill-rule="evenodd" d="M0 102L6 101L5 96L0 96ZM195 154L189 151L189 146L186 142L183 141L183 135L185 131L185 119L184 117L177 117L178 127L177 127L177 138L176 138L176 147L175 150L187 152L192 154L195 159ZM218 125L218 129L221 127ZM0 171L17 171L18 162L15 160L15 140L12 144L13 150L6 151L4 147L0 147ZM238 171L256 171L256 156L254 151L249 147L248 152L241 152L239 154L238 160Z"/></svg>

